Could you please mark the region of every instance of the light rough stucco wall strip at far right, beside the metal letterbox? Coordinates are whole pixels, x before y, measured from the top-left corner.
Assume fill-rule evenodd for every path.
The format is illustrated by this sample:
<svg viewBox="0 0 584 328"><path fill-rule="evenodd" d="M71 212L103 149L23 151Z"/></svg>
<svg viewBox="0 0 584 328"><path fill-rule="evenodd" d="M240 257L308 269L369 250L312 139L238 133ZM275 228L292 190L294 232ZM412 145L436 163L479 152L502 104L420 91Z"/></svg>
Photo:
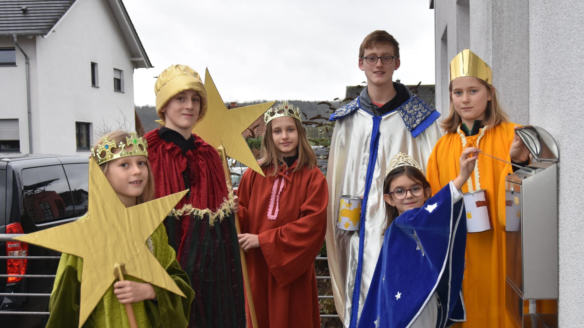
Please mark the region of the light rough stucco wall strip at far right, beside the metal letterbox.
<svg viewBox="0 0 584 328"><path fill-rule="evenodd" d="M584 2L529 5L529 120L559 145L559 326L584 313Z"/></svg>

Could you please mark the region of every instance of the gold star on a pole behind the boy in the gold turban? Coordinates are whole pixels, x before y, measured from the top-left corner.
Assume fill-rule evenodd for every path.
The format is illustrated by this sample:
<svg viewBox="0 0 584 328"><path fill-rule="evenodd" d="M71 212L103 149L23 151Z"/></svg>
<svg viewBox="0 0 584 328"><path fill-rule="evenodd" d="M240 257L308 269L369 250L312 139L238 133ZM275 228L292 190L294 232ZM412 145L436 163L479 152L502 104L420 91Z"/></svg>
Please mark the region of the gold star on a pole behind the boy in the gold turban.
<svg viewBox="0 0 584 328"><path fill-rule="evenodd" d="M193 133L214 148L224 145L227 156L265 176L241 134L276 102L228 110L208 69L205 71L205 89L207 90L207 114L194 125ZM162 120L156 122L164 125Z"/></svg>

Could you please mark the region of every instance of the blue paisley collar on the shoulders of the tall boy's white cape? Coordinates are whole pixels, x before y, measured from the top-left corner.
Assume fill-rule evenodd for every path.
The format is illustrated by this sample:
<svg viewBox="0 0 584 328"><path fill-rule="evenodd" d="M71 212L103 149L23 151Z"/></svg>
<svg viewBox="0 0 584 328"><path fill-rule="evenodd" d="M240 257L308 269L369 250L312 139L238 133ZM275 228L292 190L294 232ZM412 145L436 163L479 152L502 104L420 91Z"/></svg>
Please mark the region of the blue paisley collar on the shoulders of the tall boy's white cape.
<svg viewBox="0 0 584 328"><path fill-rule="evenodd" d="M352 100L352 102L335 110L335 113L332 113L329 121L339 120L339 118L346 117L359 109L361 107L359 99L360 97L357 97ZM430 106L416 95L413 95L405 103L389 113L396 110L399 112L399 115L404 121L405 127L411 132L413 138L418 137L420 133L426 130L430 124L434 123L434 121L440 117L440 113L434 109L434 107Z"/></svg>

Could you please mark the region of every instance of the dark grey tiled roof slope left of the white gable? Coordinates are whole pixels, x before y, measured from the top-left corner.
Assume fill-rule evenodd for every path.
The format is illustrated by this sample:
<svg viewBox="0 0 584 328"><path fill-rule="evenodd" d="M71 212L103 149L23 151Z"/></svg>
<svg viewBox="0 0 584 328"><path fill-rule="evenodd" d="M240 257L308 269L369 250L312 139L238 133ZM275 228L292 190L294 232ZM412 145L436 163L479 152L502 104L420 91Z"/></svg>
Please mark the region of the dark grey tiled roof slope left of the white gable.
<svg viewBox="0 0 584 328"><path fill-rule="evenodd" d="M0 35L46 35L75 0L0 1Z"/></svg>

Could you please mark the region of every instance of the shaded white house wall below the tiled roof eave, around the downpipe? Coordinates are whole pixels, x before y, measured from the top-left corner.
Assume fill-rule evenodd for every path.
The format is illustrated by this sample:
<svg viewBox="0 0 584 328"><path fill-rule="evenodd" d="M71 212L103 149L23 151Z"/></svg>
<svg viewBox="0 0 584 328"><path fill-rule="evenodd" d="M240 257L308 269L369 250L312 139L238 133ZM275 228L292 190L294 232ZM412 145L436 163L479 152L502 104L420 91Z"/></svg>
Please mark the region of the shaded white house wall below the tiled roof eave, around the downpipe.
<svg viewBox="0 0 584 328"><path fill-rule="evenodd" d="M29 56L31 80L36 77L36 44L34 39L20 37L20 47ZM15 47L12 37L0 37L0 48ZM32 83L36 86L36 83ZM20 133L20 151L29 152L29 128L26 101L26 65L25 56L16 48L16 66L0 67L0 119L18 118ZM32 103L36 103L36 89L31 90ZM32 109L35 111L34 107ZM34 149L33 149L34 150Z"/></svg>

